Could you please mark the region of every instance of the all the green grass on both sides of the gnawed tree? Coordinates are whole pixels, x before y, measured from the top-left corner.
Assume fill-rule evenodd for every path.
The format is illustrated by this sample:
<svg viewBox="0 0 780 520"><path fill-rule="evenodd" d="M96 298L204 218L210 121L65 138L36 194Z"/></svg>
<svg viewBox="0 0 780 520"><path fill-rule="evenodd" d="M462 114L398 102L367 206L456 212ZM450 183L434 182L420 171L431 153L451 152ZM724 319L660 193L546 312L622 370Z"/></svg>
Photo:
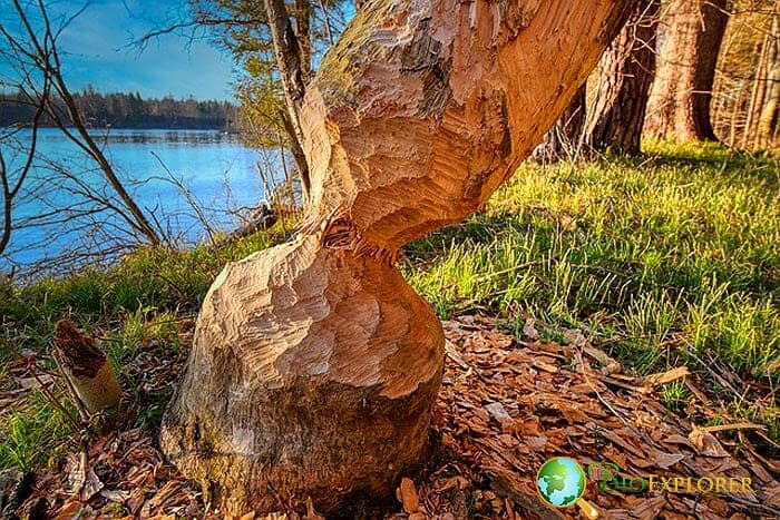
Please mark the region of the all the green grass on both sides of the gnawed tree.
<svg viewBox="0 0 780 520"><path fill-rule="evenodd" d="M703 145L651 145L643 159L525 165L485 214L411 244L403 269L442 317L482 308L521 334L532 316L544 336L560 341L579 328L638 373L680 363L702 372L703 362L774 387L779 176L777 158ZM110 272L0 287L6 360L45 350L66 314L99 330L118 366L145 341L176 349L176 321L197 308L220 266L286 235L275 233L223 251L146 251ZM684 408L683 385L665 392L670 408ZM727 401L725 412L780 436L773 395ZM152 415L138 421L154 423ZM64 418L33 392L26 406L0 412L0 468L39 464L67 438Z"/></svg>

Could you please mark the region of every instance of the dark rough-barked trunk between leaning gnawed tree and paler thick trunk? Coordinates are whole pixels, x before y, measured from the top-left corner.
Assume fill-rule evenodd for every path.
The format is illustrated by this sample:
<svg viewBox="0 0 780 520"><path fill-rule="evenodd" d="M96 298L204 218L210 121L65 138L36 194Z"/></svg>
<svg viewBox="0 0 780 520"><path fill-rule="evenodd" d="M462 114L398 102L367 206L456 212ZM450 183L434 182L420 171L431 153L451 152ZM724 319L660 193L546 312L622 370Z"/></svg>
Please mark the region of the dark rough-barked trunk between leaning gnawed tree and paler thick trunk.
<svg viewBox="0 0 780 520"><path fill-rule="evenodd" d="M642 0L602 57L583 140L593 150L636 155L655 72L660 0Z"/></svg>

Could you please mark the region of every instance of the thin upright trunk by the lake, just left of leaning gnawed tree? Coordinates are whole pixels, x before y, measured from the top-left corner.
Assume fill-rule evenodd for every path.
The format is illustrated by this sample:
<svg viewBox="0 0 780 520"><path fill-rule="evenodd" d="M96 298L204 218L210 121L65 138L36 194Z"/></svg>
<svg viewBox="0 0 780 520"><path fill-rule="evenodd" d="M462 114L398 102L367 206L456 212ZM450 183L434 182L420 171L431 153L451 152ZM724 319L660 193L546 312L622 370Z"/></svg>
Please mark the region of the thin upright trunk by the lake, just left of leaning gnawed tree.
<svg viewBox="0 0 780 520"><path fill-rule="evenodd" d="M284 118L284 126L290 134L292 153L301 175L301 189L305 204L311 192L311 174L309 164L302 153L303 130L301 129L299 112L306 91L305 71L308 68L302 62L299 40L295 31L293 31L284 0L264 0L264 3L265 12L269 17L269 28L273 39L276 65L282 78L284 101L287 107L287 117Z"/></svg>

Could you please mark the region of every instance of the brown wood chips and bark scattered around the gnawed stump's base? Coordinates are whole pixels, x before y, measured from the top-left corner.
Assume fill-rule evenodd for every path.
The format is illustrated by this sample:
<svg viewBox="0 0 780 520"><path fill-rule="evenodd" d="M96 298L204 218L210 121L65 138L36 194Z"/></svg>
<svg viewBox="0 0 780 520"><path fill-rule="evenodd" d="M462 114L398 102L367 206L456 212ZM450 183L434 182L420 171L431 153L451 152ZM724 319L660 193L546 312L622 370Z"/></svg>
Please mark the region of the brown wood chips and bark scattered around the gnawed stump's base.
<svg viewBox="0 0 780 520"><path fill-rule="evenodd" d="M637 379L624 375L579 331L566 334L560 345L529 337L519 342L482 316L460 316L443 325L447 364L431 433L436 454L422 475L402 480L394 507L363 506L367 514L416 520L579 518L577 508L548 508L535 489L542 464L563 455L595 468L584 498L602 518L780 516L780 461L759 445L766 435L745 422L703 426L715 398L708 381L685 367ZM528 334L533 324L525 328L526 336L537 336ZM156 392L176 383L183 356L160 362L149 353L135 363L130 372L143 374L146 390ZM680 414L664 406L660 392L674 381L695 396ZM622 477L681 478L680 492L622 492L611 489L613 484L599 490L602 471L615 465ZM686 492L682 483L688 477L695 482L722 475L750 479L753 491ZM60 468L39 472L18 514L222 518L204 503L196 484L164 461L156 432L139 428L103 436ZM321 517L311 507L303 517L285 516L280 502L276 516L243 518Z"/></svg>

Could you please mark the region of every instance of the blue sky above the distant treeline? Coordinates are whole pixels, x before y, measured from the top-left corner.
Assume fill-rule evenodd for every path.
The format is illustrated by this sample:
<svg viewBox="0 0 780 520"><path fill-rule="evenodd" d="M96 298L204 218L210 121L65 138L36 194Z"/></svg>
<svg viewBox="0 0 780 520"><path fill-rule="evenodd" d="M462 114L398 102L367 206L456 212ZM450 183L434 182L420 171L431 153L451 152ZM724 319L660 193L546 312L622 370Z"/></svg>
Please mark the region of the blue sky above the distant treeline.
<svg viewBox="0 0 780 520"><path fill-rule="evenodd" d="M0 0L0 11L4 11L0 23L11 26L16 13L10 0ZM52 20L72 16L87 6L59 39L62 68L71 89L92 85L101 92L232 98L232 59L203 39L189 41L173 33L155 39L143 51L129 45L152 29L181 20L186 16L186 0L49 0L46 4Z"/></svg>

